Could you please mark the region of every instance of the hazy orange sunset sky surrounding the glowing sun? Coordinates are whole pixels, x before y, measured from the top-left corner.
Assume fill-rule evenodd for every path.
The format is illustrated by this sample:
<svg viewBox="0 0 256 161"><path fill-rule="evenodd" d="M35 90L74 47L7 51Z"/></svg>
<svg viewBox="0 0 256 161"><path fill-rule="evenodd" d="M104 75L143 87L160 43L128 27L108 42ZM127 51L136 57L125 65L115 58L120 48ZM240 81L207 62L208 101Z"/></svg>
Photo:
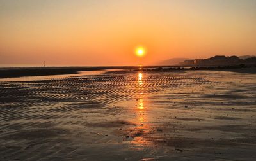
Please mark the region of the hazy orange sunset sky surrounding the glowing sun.
<svg viewBox="0 0 256 161"><path fill-rule="evenodd" d="M256 0L0 0L0 64L256 55ZM143 46L145 55L134 54Z"/></svg>

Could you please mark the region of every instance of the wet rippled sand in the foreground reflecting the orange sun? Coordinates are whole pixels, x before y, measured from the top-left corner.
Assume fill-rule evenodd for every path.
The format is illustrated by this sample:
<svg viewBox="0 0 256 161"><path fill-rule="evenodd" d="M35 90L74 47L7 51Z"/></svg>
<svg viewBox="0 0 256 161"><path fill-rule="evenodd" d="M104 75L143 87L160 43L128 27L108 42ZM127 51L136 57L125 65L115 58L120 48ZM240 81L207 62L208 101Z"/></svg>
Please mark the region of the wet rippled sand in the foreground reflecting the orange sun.
<svg viewBox="0 0 256 161"><path fill-rule="evenodd" d="M256 160L256 74L0 83L0 160Z"/></svg>

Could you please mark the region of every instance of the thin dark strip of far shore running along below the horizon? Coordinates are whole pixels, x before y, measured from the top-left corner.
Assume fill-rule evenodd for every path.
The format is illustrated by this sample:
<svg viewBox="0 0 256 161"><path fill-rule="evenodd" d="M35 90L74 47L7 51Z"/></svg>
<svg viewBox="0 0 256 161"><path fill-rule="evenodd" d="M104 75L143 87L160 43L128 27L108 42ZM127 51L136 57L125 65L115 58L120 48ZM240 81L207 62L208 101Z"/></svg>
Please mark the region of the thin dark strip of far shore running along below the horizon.
<svg viewBox="0 0 256 161"><path fill-rule="evenodd" d="M100 71L107 69L133 69L133 71L234 71L239 73L256 73L255 66L109 66L109 67L4 67L0 68L0 78L19 78L26 76L54 76L78 74L83 71Z"/></svg>

